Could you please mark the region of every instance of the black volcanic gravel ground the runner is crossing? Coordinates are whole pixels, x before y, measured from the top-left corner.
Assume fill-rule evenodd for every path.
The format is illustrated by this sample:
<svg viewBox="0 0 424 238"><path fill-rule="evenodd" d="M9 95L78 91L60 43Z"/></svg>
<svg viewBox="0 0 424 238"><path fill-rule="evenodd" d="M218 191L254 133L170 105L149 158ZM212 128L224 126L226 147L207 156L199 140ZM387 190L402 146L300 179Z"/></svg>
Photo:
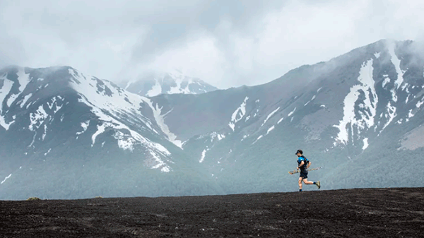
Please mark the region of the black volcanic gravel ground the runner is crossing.
<svg viewBox="0 0 424 238"><path fill-rule="evenodd" d="M0 201L1 237L424 237L424 188Z"/></svg>

